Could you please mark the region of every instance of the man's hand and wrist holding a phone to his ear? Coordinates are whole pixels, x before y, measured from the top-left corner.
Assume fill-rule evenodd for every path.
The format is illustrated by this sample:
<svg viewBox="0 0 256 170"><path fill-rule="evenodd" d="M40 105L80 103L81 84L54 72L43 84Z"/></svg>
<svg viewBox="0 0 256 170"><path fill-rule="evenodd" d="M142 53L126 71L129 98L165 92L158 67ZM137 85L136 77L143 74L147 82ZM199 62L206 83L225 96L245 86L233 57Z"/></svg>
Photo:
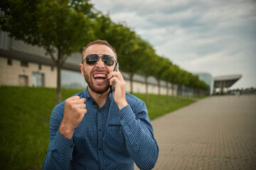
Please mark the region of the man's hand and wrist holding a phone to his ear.
<svg viewBox="0 0 256 170"><path fill-rule="evenodd" d="M113 94L114 102L117 103L119 109L124 108L128 103L126 100L125 81L122 74L119 72L119 69L117 69L116 72L110 72L107 79L110 79L110 86L115 82Z"/></svg>

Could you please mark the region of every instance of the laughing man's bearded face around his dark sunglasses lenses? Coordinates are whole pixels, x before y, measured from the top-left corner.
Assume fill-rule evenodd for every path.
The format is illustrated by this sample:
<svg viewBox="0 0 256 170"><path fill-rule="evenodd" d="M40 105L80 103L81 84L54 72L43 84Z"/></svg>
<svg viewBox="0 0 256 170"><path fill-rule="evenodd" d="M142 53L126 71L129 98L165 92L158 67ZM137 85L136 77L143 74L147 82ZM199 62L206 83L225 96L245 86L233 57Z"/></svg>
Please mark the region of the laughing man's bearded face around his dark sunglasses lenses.
<svg viewBox="0 0 256 170"><path fill-rule="evenodd" d="M102 62L102 55L111 55L116 59L114 52L107 45L91 45L85 50L82 55L84 60L87 55L97 54L100 55L100 59L93 65L88 65L85 61L80 64L82 75L85 77L85 81L88 84L88 88L96 94L103 94L110 90L110 81L107 79L107 74L113 71L114 65L108 66Z"/></svg>

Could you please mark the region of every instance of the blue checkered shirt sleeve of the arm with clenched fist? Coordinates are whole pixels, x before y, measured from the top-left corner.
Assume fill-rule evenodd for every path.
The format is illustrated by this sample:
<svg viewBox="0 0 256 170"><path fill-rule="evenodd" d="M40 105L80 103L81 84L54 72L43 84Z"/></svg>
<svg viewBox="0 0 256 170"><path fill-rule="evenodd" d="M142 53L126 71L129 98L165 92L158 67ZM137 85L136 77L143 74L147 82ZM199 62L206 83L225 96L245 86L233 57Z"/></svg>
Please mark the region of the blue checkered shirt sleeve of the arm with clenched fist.
<svg viewBox="0 0 256 170"><path fill-rule="evenodd" d="M42 169L71 169L72 154L74 148L73 138L63 137L58 131L63 114L61 109L53 108L50 116L50 139L49 147L46 153L46 159L43 162Z"/></svg>

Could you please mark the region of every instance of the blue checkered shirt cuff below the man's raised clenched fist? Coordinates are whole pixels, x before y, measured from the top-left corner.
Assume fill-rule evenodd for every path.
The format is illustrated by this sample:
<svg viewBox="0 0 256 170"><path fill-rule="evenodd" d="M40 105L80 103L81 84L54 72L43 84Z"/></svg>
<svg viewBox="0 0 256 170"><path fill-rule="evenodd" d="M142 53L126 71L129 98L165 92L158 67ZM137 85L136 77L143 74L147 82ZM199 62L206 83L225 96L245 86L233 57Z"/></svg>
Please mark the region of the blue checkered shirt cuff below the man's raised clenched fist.
<svg viewBox="0 0 256 170"><path fill-rule="evenodd" d="M71 139L68 139L66 137L63 137L63 135L61 135L60 132L57 131L54 141L54 147L63 154L72 154L73 148L75 147L73 137Z"/></svg>

